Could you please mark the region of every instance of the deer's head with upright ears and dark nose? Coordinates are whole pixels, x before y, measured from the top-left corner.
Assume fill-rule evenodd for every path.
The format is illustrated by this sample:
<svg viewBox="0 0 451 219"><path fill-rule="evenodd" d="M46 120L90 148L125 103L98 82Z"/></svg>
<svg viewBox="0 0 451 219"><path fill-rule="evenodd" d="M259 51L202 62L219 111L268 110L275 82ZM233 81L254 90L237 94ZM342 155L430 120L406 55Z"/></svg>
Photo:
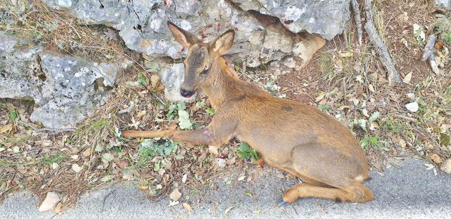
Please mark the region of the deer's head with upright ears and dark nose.
<svg viewBox="0 0 451 219"><path fill-rule="evenodd" d="M188 48L188 56L184 61L185 80L180 87L180 94L190 97L209 77L214 60L232 47L235 31L227 30L214 41L203 43L196 36L172 22L168 21L167 26L175 40L183 47Z"/></svg>

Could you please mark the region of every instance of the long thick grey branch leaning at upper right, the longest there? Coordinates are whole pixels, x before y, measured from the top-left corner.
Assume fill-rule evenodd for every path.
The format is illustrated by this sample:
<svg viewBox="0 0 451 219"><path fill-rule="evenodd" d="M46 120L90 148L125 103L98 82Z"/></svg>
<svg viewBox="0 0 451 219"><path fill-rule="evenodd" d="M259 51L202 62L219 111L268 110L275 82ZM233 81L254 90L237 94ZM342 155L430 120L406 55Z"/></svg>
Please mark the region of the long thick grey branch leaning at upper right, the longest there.
<svg viewBox="0 0 451 219"><path fill-rule="evenodd" d="M365 0L365 14L365 30L368 34L369 40L376 47L376 50L380 56L380 61L382 62L382 66L387 71L389 86L393 86L394 84L402 84L403 80L401 80L401 77L399 76L398 71L395 68L395 64L393 64L390 53L380 39L380 36L376 31L376 27L374 27L373 14L371 13L371 0Z"/></svg>

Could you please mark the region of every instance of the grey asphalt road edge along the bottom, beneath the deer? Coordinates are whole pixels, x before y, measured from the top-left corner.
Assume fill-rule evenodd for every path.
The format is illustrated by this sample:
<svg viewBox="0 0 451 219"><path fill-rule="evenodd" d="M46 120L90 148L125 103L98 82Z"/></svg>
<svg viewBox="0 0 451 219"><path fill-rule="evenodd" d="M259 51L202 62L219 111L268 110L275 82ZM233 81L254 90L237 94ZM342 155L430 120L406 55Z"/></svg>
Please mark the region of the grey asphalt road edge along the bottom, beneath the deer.
<svg viewBox="0 0 451 219"><path fill-rule="evenodd" d="M281 172L265 167L250 182L237 181L237 175L229 174L230 185L215 180L213 189L205 189L188 200L190 189L182 188L180 204L172 207L168 206L167 196L149 200L136 186L120 185L91 192L81 197L76 207L57 215L38 212L37 197L21 193L0 204L0 219L451 218L451 175L438 171L435 176L417 159L400 166L387 169L383 176L372 172L372 180L365 185L374 192L375 200L364 204L304 198L280 208L276 201L296 180L278 178ZM191 213L183 202L190 204Z"/></svg>

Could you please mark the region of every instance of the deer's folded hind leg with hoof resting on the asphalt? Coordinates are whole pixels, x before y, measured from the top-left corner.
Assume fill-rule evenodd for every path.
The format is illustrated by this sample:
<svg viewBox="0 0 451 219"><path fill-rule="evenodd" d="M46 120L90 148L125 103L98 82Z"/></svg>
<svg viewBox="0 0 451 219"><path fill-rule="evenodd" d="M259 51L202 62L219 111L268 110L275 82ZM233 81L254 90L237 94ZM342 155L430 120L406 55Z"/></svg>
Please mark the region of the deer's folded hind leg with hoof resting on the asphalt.
<svg viewBox="0 0 451 219"><path fill-rule="evenodd" d="M329 198L340 202L373 200L371 190L356 180L368 176L366 168L352 157L321 145L297 147L291 155L293 169L314 183L306 181L288 189L278 203L280 206L286 206L299 197Z"/></svg>

